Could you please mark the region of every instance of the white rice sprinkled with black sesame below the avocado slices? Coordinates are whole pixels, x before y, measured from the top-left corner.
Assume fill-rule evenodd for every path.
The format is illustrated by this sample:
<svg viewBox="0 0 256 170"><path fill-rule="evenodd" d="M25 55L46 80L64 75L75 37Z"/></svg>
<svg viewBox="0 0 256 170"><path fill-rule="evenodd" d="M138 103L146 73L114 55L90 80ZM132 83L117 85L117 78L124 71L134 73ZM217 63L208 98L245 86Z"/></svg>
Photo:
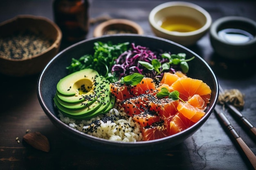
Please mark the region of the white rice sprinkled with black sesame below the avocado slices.
<svg viewBox="0 0 256 170"><path fill-rule="evenodd" d="M60 112L58 117L70 127L95 137L111 141L142 141L140 125L125 112L116 108L90 120L75 120L65 117Z"/></svg>

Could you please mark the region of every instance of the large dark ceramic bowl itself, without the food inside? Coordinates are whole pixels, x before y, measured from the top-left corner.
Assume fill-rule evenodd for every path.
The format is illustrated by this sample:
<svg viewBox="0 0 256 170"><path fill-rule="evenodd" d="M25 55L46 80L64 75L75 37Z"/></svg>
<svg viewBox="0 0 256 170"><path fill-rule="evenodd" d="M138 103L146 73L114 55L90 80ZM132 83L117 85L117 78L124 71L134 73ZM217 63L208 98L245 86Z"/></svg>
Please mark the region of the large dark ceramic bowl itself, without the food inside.
<svg viewBox="0 0 256 170"><path fill-rule="evenodd" d="M57 110L54 108L53 97L56 92L56 84L59 79L67 75L66 66L70 65L72 57L79 58L87 53L93 53L94 42L97 41L111 41L113 44L119 42L135 42L135 44L147 46L151 50L162 49L164 51L171 51L171 53L186 53L188 58L195 56L195 59L189 62L190 68L188 76L202 79L212 90L210 104L206 109L204 117L190 128L175 135L152 141L139 142L120 142L100 139L98 137L93 137L79 132L78 130L74 130L70 126L64 124L57 117ZM172 41L153 36L136 34L104 35L99 38L84 40L58 53L58 55L56 55L47 64L47 66L45 66L40 74L38 79L37 95L45 114L49 117L52 123L59 128L60 132L63 132L68 137L81 142L86 147L90 146L99 150L119 153L138 153L165 150L180 144L182 141L193 135L205 123L205 121L207 121L216 105L218 99L218 82L209 65L200 56Z"/></svg>

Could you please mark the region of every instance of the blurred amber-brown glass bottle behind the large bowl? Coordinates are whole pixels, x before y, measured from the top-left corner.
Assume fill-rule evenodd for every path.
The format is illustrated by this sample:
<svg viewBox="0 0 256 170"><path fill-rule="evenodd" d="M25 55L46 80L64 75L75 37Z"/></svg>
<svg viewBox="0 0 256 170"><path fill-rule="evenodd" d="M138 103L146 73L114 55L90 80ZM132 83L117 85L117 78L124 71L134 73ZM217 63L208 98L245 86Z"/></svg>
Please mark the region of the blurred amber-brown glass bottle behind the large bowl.
<svg viewBox="0 0 256 170"><path fill-rule="evenodd" d="M89 0L54 0L54 22L60 27L63 40L79 42L89 30Z"/></svg>

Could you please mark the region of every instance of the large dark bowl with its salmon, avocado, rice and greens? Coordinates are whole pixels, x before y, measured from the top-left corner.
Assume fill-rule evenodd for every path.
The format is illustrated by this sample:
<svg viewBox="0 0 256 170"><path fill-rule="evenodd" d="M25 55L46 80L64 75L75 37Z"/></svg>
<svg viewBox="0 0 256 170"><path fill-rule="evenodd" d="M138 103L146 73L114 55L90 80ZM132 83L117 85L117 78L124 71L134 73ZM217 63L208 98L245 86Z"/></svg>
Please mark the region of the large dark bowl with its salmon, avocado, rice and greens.
<svg viewBox="0 0 256 170"><path fill-rule="evenodd" d="M115 46L118 51L123 50L123 52L121 52L121 55L117 53L112 53L111 56L108 55L110 57L109 61L112 61L113 65L112 68L106 68L106 64L99 65L107 59L106 57L103 57L102 60L100 59L99 56L104 55L97 49L97 46L110 46L110 48ZM137 53L133 53L134 51L137 51ZM145 54L145 51L147 51L147 54ZM151 63L154 67L153 69L150 68L149 63L145 64L146 60L141 62L142 59L139 59L138 62L135 59L136 56L138 58L141 55L148 57L149 55L156 56L158 54L161 54L159 56L163 57L165 55L167 57L163 57L162 65L160 64L161 66L159 67L153 63L158 63L157 61L160 60L149 59L149 62L154 60ZM173 57L173 55L177 57L184 54L186 60L180 58L180 63L185 61L185 65L189 66L186 68L182 68L179 64L177 66L172 65L171 60L169 60L170 58L168 58L170 56ZM133 55L131 60L127 59L129 55ZM111 60L111 57L114 56L116 58ZM91 59L93 57L94 59ZM121 59L122 57L123 59ZM123 61L124 58L127 60ZM125 75L124 70L120 71L120 68L124 68L124 64L131 63L132 60L134 64L144 66L148 72L144 74L143 69L136 66L129 66L134 73L130 70ZM173 62L175 60L177 58ZM109 61L108 63L111 63ZM170 88L165 86L165 84L171 81L171 77L166 77L163 80L164 78L159 77L157 73L155 75L158 75L159 78L155 80L148 75L149 73L155 73L156 67L159 72L162 72L160 75L164 75L164 70L167 68L166 64L164 64L166 62L163 61L168 61L169 64L167 65L170 66L168 68L170 71L166 72L169 72L171 77L176 77L173 82L178 82L176 83L177 89L168 90ZM88 62L89 64L85 64L85 66L81 64L83 62ZM115 66L116 68L114 68ZM138 68L137 71L140 70L142 72L136 73L135 68ZM97 70L96 73L95 70ZM117 72L114 73L114 71ZM166 75L169 73L166 73ZM151 80L148 81L146 78ZM116 82L114 79L117 79ZM179 83L182 83L184 79L189 79L193 88L202 84L208 89L205 93L199 92L201 100L204 100L204 108L197 109L204 111L196 111L195 113L196 115L199 113L200 116L193 115L188 117L186 115L184 118L184 115L182 115L182 108L186 108L187 105L193 105L187 103L187 95L184 95L182 90L179 89ZM135 83L136 81L137 83ZM142 92L137 90L137 87L144 86L145 82L148 85L145 87L146 90L144 89ZM153 83L154 87L150 83ZM162 85L161 88L160 84ZM101 90L97 90L98 88L101 88ZM94 90L92 91L92 89ZM157 95L157 93L164 92L165 90L170 91L170 93L167 92L168 94L174 91L180 91L180 93L176 95L176 99L168 97L170 95L167 95L167 97L166 95L164 97ZM195 93L195 91L192 93ZM129 94L126 94L126 92ZM97 98L97 102L95 100L89 102L93 100L93 97L92 95L85 94L94 94L93 96ZM207 121L217 103L218 82L209 65L196 53L180 44L150 35L115 34L84 40L58 53L41 72L38 79L37 95L45 114L59 128L60 132L63 132L74 141L84 144L85 147L90 146L97 150L119 153L153 152L165 150L182 143ZM89 96L89 99L85 96ZM137 100L138 96L141 97L139 102ZM83 98L83 101L87 102L71 104L65 100L66 98L72 99L72 97ZM152 100L157 102L150 102L152 97L154 98ZM193 98L192 95L189 98ZM141 105L137 106L136 101ZM106 103L109 104L106 105ZM126 105L131 103L133 105ZM162 106L163 103L175 106L175 114L172 113L167 116L166 113L169 114L169 111L166 111L167 108L159 110L161 107L158 106L157 110L157 105L152 105L156 103L161 105L161 107L164 107ZM99 107L98 104L100 104ZM179 110L177 110L178 104L181 104L181 109ZM184 106L185 104L186 106ZM87 113L84 114L84 111L79 111L75 107L82 107L82 110L87 110ZM156 110L152 109L154 107ZM68 108L71 111L67 111ZM161 110L164 110L165 113L160 113ZM139 113L135 114L137 111ZM177 116L178 112L182 112L182 114L179 113ZM146 113L146 116L141 115L141 117L136 119L148 121L147 118L152 118L153 115L157 120L150 123L146 122L146 124L135 121L134 117L140 115L140 113ZM182 117L189 119L190 125L186 128L177 126L177 122L175 124L175 119L177 121L177 119L183 119ZM167 123L164 120L168 120L166 121ZM174 130L170 130L171 128L168 124L174 127ZM162 135L152 135L157 134L155 130L160 131Z"/></svg>

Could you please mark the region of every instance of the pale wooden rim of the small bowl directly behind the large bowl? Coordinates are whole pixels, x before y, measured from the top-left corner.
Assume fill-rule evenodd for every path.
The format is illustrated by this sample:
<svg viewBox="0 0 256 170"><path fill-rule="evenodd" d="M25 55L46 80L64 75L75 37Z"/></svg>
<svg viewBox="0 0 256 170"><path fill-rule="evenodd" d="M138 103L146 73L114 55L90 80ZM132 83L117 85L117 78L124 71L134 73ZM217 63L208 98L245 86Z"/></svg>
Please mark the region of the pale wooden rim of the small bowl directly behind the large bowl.
<svg viewBox="0 0 256 170"><path fill-rule="evenodd" d="M131 20L127 20L127 19L116 18L116 19L110 19L110 20L104 21L101 24L99 24L98 26L96 26L96 28L93 31L93 36L94 37L99 37L99 36L104 35L104 33L103 33L104 29L107 26L115 25L115 24L122 24L122 25L130 26L130 27L134 28L137 31L137 34L143 34L144 33L141 26L139 26L139 24L137 24L136 22L131 21Z"/></svg>

